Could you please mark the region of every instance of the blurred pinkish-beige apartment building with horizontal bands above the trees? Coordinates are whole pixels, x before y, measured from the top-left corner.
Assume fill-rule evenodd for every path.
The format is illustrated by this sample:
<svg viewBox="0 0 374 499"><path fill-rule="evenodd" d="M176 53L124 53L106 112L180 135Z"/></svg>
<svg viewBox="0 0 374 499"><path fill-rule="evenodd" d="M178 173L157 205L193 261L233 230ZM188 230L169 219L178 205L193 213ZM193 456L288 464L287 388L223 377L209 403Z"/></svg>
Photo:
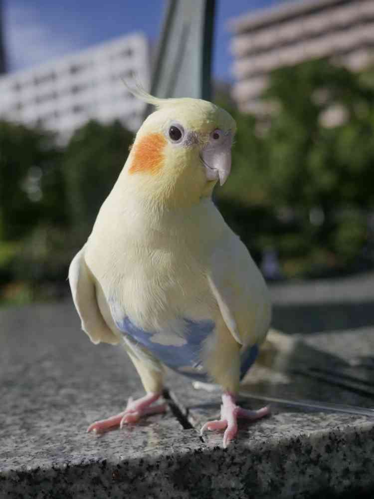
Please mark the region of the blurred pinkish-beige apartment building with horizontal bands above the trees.
<svg viewBox="0 0 374 499"><path fill-rule="evenodd" d="M374 0L301 0L230 21L240 110L261 112L268 74L282 65L331 56L353 70L374 61Z"/></svg>

